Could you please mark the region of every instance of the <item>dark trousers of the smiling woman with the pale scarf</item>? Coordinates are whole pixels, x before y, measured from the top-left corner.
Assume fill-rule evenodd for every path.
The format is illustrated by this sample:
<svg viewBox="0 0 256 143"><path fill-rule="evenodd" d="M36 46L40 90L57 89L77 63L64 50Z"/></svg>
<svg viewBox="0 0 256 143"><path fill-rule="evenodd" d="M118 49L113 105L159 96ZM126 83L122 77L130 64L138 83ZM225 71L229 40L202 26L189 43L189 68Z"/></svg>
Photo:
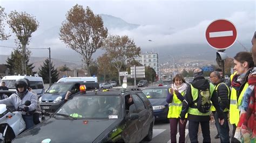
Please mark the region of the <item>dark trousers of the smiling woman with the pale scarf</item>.
<svg viewBox="0 0 256 143"><path fill-rule="evenodd" d="M170 118L170 129L171 129L171 142L177 142L176 135L177 135L177 126L179 124L179 142L185 142L185 129L186 123L181 124L180 118Z"/></svg>

